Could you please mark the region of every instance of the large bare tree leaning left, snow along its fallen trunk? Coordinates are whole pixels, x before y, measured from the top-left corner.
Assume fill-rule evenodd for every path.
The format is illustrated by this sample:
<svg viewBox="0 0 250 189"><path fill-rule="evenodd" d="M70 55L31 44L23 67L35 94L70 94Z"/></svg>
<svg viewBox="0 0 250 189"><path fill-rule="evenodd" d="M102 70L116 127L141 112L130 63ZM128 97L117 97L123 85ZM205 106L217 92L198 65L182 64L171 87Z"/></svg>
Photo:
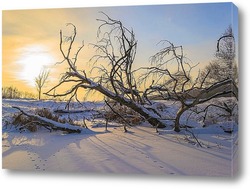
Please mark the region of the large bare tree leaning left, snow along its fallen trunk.
<svg viewBox="0 0 250 189"><path fill-rule="evenodd" d="M71 58L71 49L77 30L70 23L68 26L73 27L73 34L63 38L62 31L60 31L59 46L64 58L62 63L67 63L68 71L62 76L61 81L45 94L54 97L70 95L70 102L72 98L78 100L77 91L80 88L98 91L107 98L138 112L154 127L165 127L164 121L155 111L151 110L152 108L142 105L141 92L137 88L132 71L137 47L133 30L127 29L120 21L104 15L106 19L98 19L101 22L97 33L99 40L97 44L92 44L97 54L93 56L91 61L94 64L93 69L99 70L99 76L91 77L85 70L77 70L78 55L84 44ZM63 45L67 45L67 47L63 47ZM106 64L101 65L99 60ZM99 64L97 65L97 63ZM54 93L55 89L70 82L74 83L70 90Z"/></svg>

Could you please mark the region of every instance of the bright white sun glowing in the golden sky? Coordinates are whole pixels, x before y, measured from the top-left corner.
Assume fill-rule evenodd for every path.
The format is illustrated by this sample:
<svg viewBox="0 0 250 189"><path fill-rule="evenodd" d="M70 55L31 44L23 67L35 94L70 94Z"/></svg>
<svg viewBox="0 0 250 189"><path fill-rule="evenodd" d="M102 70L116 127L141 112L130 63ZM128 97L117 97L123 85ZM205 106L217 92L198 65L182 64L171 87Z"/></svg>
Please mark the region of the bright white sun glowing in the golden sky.
<svg viewBox="0 0 250 189"><path fill-rule="evenodd" d="M30 86L35 86L35 78L43 69L48 69L55 63L55 58L47 47L30 45L20 49L17 63L20 65L18 77Z"/></svg>

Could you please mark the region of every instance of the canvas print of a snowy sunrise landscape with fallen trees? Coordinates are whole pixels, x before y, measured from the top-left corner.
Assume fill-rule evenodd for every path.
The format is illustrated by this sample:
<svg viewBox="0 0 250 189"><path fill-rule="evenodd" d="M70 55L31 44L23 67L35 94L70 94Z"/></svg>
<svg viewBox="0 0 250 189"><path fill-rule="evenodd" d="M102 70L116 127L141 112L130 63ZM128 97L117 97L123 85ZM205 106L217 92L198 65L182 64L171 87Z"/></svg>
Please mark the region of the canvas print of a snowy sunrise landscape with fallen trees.
<svg viewBox="0 0 250 189"><path fill-rule="evenodd" d="M2 13L3 169L235 175L233 3Z"/></svg>

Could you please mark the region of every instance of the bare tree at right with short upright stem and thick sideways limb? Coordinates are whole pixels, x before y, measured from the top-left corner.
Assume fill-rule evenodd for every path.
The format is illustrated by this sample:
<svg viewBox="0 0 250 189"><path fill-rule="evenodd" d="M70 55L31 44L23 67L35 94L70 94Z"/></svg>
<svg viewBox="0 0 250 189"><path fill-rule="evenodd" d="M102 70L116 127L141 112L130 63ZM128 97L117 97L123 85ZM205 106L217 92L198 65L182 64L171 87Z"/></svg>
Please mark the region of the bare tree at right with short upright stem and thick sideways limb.
<svg viewBox="0 0 250 189"><path fill-rule="evenodd" d="M238 95L238 89L231 78L214 82L211 85L204 85L210 71L206 73L201 82L200 74L192 79L192 65L189 59L183 55L182 46L175 46L169 41L162 41L168 44L158 53L151 57L152 67L143 68L147 70L141 76L141 80L157 78L152 81L150 87L145 90L144 97L149 99L149 94L157 94L162 99L173 99L180 102L181 106L174 118L174 130L180 131L180 118L190 108L207 102L213 98L227 94ZM147 100L150 103L150 100Z"/></svg>

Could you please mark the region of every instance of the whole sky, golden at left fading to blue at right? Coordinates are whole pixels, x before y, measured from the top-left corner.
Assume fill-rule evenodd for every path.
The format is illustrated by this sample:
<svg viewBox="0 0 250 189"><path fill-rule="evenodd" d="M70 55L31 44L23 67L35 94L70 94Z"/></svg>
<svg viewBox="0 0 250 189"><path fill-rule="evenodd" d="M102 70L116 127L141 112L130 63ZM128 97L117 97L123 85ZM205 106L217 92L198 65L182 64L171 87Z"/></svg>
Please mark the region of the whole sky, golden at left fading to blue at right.
<svg viewBox="0 0 250 189"><path fill-rule="evenodd" d="M161 40L182 45L184 54L202 68L213 58L216 42L232 25L238 42L237 10L231 3L118 6L69 9L4 10L2 14L2 85L35 93L35 77L50 70L45 90L58 83L64 65L59 51L59 31L77 27L76 47L84 40L79 64L88 64L96 43L100 12L133 29L138 40L134 68L149 65L149 57L162 46Z"/></svg>

